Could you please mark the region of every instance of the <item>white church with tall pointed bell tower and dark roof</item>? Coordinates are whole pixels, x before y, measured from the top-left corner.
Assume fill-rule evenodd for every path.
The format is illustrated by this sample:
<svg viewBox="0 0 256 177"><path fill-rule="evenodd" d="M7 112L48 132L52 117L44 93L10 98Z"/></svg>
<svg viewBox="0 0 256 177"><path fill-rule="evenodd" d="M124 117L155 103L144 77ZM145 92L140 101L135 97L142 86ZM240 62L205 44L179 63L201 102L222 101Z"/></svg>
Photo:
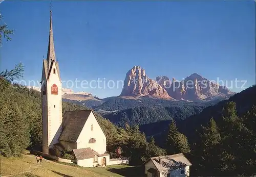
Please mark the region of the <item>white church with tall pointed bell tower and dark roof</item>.
<svg viewBox="0 0 256 177"><path fill-rule="evenodd" d="M47 59L42 63L41 77L42 153L60 156L72 151L74 163L93 167L127 164L123 158L110 159L106 153L106 136L93 110L66 111L62 117L61 79L56 61L52 11Z"/></svg>

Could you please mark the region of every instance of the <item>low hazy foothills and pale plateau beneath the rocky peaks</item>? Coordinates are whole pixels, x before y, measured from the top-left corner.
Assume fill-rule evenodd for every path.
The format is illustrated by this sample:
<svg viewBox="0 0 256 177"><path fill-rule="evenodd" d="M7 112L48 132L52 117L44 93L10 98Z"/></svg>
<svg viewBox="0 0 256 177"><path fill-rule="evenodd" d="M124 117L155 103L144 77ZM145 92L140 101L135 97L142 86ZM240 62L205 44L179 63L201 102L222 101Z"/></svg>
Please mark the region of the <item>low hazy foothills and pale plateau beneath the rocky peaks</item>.
<svg viewBox="0 0 256 177"><path fill-rule="evenodd" d="M40 91L38 87L28 88ZM113 96L100 99L92 96L90 93L83 92L83 94L78 94L71 89L62 89L62 100L64 102L86 106L90 109L94 109L101 115L105 115L136 107L162 108L184 104L211 106L223 100L223 98L210 100L208 102L186 102L185 100L177 102L177 100L174 99L163 99L153 96Z"/></svg>

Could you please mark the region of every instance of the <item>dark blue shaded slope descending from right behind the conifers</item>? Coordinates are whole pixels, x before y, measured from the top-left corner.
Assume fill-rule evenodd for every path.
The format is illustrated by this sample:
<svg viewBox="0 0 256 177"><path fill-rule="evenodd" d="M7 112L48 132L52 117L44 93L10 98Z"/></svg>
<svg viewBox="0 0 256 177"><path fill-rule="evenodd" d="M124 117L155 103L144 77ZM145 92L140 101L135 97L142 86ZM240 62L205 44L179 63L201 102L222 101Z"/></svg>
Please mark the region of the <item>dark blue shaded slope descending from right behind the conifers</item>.
<svg viewBox="0 0 256 177"><path fill-rule="evenodd" d="M222 100L214 106L206 107L199 114L194 114L186 119L176 119L179 131L185 134L188 140L196 141L198 137L197 131L201 130L201 125L205 126L210 118L219 120L222 116L223 107L227 103L234 102L238 110L238 115L243 115L246 111L250 110L253 105L256 105L256 85L243 90L231 96L227 100ZM167 130L170 120L163 120L140 126L140 131L144 132L147 136L153 135L156 143L160 146L163 145L167 136Z"/></svg>

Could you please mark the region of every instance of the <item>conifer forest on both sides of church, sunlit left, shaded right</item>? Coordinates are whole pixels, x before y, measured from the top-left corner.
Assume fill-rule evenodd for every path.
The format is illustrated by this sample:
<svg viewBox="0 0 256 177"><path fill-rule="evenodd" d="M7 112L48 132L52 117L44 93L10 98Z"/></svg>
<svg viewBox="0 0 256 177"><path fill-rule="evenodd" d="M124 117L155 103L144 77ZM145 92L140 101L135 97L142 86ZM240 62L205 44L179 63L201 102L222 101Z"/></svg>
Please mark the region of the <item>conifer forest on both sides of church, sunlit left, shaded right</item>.
<svg viewBox="0 0 256 177"><path fill-rule="evenodd" d="M6 27L1 30L0 34L7 37L12 33ZM22 77L22 72L23 66L17 65L11 71L0 73L1 156L19 156L25 149L41 150L41 95L38 91L11 84L14 78ZM221 113L217 117L190 132L195 136L187 138L172 121L164 148L158 147L153 137L147 141L138 125L130 127L126 123L125 128L120 128L98 114L97 118L106 134L107 150L114 153L120 146L123 156L129 157L132 165L141 165L150 157L184 153L193 164L191 176L251 176L256 174L256 107L253 97L256 86L244 92L251 97L240 97L236 102L248 99L249 108L246 104L240 106L238 115L236 102L225 103L222 110L218 110ZM65 113L87 108L63 102L62 109Z"/></svg>

